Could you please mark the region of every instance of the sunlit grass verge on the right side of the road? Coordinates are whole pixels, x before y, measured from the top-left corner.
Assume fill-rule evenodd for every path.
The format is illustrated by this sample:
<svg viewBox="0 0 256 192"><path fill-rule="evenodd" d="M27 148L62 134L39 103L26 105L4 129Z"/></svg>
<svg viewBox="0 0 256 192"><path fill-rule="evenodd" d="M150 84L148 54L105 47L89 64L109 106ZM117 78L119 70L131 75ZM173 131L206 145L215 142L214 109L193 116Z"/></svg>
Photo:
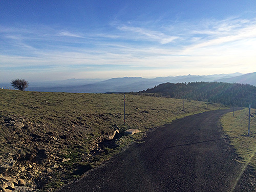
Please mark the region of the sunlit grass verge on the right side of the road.
<svg viewBox="0 0 256 192"><path fill-rule="evenodd" d="M250 137L248 137L249 109L228 113L221 118L224 133L230 136L233 145L240 157L240 162L251 165L256 169L256 110L251 109Z"/></svg>

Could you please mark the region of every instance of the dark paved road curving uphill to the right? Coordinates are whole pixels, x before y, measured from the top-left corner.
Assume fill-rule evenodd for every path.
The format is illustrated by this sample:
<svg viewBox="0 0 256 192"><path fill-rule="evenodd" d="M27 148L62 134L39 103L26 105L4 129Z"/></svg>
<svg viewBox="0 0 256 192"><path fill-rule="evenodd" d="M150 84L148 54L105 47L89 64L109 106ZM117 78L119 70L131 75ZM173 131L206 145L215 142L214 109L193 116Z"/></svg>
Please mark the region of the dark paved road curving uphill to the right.
<svg viewBox="0 0 256 192"><path fill-rule="evenodd" d="M255 191L210 111L174 121L61 191ZM242 175L240 174L242 173ZM241 175L241 177L240 177Z"/></svg>

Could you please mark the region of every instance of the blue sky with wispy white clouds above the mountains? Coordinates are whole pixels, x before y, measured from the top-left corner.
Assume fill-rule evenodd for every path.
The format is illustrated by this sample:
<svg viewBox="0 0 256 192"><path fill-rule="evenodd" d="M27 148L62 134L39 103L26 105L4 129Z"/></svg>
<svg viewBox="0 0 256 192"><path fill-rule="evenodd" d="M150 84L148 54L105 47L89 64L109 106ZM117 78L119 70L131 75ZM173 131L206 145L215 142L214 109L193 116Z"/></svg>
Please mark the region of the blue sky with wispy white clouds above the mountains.
<svg viewBox="0 0 256 192"><path fill-rule="evenodd" d="M0 82L256 72L256 1L0 0Z"/></svg>

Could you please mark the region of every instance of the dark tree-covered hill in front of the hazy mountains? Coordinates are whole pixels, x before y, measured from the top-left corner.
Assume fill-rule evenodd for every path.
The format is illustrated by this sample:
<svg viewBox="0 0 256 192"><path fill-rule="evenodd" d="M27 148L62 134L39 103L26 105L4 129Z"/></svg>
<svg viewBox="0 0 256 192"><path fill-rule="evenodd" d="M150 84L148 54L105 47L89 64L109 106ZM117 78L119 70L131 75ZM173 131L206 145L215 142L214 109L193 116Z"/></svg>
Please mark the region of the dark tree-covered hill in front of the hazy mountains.
<svg viewBox="0 0 256 192"><path fill-rule="evenodd" d="M139 92L139 94L154 93L158 96L191 99L226 105L256 107L256 87L248 84L225 82L189 82L163 83L159 86Z"/></svg>

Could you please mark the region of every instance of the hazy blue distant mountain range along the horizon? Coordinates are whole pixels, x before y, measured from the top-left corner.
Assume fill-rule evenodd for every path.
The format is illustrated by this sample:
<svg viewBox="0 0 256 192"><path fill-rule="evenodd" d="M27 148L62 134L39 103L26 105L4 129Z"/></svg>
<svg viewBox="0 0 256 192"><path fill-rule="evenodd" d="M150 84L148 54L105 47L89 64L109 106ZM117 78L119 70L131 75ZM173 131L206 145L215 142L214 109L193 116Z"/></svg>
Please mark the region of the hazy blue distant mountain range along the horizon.
<svg viewBox="0 0 256 192"><path fill-rule="evenodd" d="M249 74L233 73L206 76L185 75L176 77L157 77L153 79L142 77L123 77L103 81L100 79L67 79L62 81L30 82L28 90L72 93L138 92L148 88L153 88L165 82L182 83L201 81L237 82L256 86L256 72ZM0 86L3 87L2 84L0 84Z"/></svg>

